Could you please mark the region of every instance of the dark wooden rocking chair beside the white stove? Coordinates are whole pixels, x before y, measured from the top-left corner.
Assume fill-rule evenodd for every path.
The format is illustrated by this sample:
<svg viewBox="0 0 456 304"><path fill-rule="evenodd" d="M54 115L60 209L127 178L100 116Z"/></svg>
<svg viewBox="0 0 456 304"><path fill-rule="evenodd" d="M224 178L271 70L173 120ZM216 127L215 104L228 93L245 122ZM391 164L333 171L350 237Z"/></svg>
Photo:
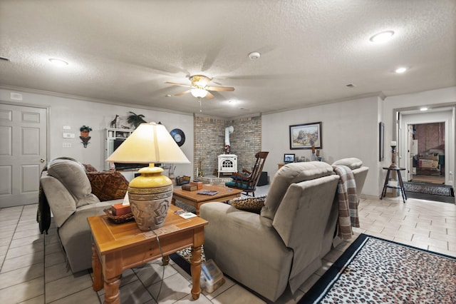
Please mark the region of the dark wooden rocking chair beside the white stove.
<svg viewBox="0 0 456 304"><path fill-rule="evenodd" d="M255 190L257 189L257 183L259 176L261 176L261 171L263 171L264 161L266 160L266 156L268 156L269 152L258 152L255 154L257 161L255 161L255 165L252 168L252 172L247 171L246 169L242 169L242 173L233 173L232 181L228 181L225 183L225 186L229 188L237 188L246 193L249 196L249 193L252 193L252 196L255 196Z"/></svg>

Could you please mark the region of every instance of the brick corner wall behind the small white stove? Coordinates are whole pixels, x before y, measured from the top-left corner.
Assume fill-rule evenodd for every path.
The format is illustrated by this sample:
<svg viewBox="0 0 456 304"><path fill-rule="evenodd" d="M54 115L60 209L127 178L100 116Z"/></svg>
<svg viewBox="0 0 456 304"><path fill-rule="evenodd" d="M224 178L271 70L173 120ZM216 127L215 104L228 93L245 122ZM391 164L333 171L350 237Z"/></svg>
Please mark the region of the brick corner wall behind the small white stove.
<svg viewBox="0 0 456 304"><path fill-rule="evenodd" d="M238 171L242 171L242 168L252 170L255 153L261 151L261 116L225 121L195 115L194 123L194 176L199 166L204 176L217 174L217 156L224 153L225 128L228 126L234 128L233 133L229 134L229 143L231 153L238 157Z"/></svg>

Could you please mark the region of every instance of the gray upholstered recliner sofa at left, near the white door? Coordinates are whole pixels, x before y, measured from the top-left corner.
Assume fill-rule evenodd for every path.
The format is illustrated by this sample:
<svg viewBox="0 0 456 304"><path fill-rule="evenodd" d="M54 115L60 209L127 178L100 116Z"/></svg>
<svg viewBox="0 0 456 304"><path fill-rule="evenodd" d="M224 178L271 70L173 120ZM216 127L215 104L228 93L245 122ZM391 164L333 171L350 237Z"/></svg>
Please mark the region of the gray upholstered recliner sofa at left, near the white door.
<svg viewBox="0 0 456 304"><path fill-rule="evenodd" d="M125 191L117 191L118 199L101 202L92 193L87 174L84 166L77 161L56 159L48 164L40 178L53 221L58 228L58 237L73 273L92 267L92 235L87 218L103 215L105 208L122 203L128 186L126 180L120 181L124 183L120 188L125 188ZM102 174L113 175L115 172ZM119 175L120 173L116 178ZM103 191L102 188L99 190ZM103 193L99 194L100 197L102 195Z"/></svg>

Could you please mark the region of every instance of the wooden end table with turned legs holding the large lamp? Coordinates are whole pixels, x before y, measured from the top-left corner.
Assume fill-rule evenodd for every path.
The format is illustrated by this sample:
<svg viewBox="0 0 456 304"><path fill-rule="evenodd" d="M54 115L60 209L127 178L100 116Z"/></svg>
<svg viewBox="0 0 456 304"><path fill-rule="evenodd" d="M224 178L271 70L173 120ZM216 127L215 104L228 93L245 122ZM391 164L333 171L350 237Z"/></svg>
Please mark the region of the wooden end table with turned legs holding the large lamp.
<svg viewBox="0 0 456 304"><path fill-rule="evenodd" d="M171 253L192 247L192 297L196 300L201 293L201 245L207 221L199 217L181 218L174 213L179 209L170 206L165 224L154 231L160 240L165 265ZM152 231L139 230L135 221L114 224L107 216L91 216L88 223L93 236L93 290L104 287L105 303L120 303L120 275L123 270L160 258L157 238Z"/></svg>

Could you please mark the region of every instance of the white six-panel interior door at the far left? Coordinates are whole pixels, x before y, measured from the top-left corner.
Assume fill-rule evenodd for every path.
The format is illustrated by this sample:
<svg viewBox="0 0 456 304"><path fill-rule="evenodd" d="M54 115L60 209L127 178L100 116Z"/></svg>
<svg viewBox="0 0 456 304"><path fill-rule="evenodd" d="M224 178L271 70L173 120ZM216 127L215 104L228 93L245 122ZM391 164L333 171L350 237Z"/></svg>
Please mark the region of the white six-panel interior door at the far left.
<svg viewBox="0 0 456 304"><path fill-rule="evenodd" d="M0 103L0 208L38 203L46 128L46 108Z"/></svg>

